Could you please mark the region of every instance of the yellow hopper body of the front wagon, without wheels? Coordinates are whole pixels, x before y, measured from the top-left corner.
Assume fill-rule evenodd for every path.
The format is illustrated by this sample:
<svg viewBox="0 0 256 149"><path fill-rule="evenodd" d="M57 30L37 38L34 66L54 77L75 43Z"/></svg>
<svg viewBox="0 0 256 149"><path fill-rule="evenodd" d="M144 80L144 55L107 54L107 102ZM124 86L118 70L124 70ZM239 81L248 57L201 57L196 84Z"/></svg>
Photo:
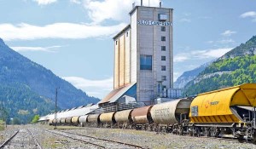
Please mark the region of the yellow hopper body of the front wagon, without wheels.
<svg viewBox="0 0 256 149"><path fill-rule="evenodd" d="M190 106L192 123L241 123L239 106L256 106L256 83L218 89L195 97Z"/></svg>

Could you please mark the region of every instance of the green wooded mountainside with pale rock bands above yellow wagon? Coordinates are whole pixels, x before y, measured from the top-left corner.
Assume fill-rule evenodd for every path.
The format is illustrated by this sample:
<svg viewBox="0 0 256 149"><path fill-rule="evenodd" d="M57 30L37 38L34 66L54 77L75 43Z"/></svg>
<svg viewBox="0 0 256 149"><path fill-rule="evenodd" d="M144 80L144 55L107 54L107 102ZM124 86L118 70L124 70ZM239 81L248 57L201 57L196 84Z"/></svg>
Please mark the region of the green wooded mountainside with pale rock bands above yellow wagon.
<svg viewBox="0 0 256 149"><path fill-rule="evenodd" d="M242 83L256 83L256 36L224 54L187 83L184 95L197 95Z"/></svg>

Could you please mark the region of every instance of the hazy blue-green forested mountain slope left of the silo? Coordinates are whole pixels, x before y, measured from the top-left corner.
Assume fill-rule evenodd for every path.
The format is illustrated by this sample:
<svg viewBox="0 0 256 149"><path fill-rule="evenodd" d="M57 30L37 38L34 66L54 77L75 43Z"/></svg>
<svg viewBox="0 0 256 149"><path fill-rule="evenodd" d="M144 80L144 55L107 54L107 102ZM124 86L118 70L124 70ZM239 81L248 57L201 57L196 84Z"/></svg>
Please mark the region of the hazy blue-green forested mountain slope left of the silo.
<svg viewBox="0 0 256 149"><path fill-rule="evenodd" d="M10 49L0 38L0 107L5 107L10 117L52 112L55 109L55 89L58 87L60 109L99 101Z"/></svg>

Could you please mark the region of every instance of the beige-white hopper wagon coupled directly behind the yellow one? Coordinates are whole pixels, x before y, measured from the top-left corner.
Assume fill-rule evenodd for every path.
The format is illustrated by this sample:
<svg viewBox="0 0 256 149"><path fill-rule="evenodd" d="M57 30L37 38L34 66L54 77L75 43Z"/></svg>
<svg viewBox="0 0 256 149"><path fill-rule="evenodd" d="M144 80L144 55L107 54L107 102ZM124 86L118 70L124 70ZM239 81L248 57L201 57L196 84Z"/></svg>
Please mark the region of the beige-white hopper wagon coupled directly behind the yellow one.
<svg viewBox="0 0 256 149"><path fill-rule="evenodd" d="M189 119L189 107L192 100L179 99L154 105L150 115L154 129L177 133L180 124Z"/></svg>

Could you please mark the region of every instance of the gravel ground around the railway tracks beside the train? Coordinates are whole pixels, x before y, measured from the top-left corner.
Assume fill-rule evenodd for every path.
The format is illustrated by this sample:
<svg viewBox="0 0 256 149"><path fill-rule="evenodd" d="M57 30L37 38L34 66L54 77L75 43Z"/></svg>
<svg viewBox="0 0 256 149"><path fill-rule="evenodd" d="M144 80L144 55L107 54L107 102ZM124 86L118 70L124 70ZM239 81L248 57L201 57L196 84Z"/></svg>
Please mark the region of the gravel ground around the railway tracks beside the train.
<svg viewBox="0 0 256 149"><path fill-rule="evenodd" d="M0 131L0 136L3 138L13 135L16 129L30 129L32 134L37 138L38 143L43 148L96 148L96 146L91 146L84 144L79 140L73 140L61 135L54 135L46 132L44 129L53 129L46 125L25 125L25 126L15 126L9 127L4 131ZM190 136L180 136L171 134L157 134L155 132L134 130L134 129L99 129L99 128L80 128L80 127L61 127L58 129L64 131L70 131L81 135L90 135L98 138L117 140L125 143L134 144L137 146L143 146L144 148L255 148L256 145L252 143L240 143L237 140L222 140L222 139L212 139L205 137L190 137ZM4 139L0 140L1 142Z"/></svg>

